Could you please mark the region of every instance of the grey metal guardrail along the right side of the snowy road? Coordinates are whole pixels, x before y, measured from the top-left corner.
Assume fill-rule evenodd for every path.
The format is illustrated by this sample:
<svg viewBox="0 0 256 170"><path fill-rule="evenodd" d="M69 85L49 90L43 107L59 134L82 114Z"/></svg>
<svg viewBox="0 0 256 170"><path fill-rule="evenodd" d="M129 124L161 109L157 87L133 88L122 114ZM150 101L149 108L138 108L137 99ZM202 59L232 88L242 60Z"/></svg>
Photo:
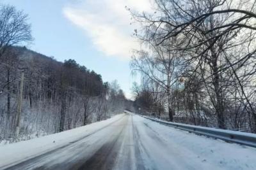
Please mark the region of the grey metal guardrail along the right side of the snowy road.
<svg viewBox="0 0 256 170"><path fill-rule="evenodd" d="M223 141L227 141L228 143L239 143L241 145L252 146L256 148L256 134L246 133L246 132L236 132L236 131L228 131L223 129L214 129L211 127L200 127L196 125L186 125L179 124L173 122L165 122L161 120L156 120L154 118L145 117L140 115L141 117L147 118L154 122L158 122L159 124L168 125L170 127L175 127L177 129L181 129L188 132L193 132L195 134L209 136L212 138L222 139Z"/></svg>

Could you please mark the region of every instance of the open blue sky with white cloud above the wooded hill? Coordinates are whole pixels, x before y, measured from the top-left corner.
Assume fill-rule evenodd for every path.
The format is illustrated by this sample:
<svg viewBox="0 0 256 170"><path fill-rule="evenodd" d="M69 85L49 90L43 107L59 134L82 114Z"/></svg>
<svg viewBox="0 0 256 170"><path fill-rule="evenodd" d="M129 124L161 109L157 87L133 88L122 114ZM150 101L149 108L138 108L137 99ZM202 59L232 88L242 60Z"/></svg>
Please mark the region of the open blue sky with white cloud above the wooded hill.
<svg viewBox="0 0 256 170"><path fill-rule="evenodd" d="M35 41L28 47L59 61L77 63L102 75L104 81L118 80L131 97L129 60L139 43L131 37L134 25L125 6L150 10L148 0L1 0L29 15Z"/></svg>

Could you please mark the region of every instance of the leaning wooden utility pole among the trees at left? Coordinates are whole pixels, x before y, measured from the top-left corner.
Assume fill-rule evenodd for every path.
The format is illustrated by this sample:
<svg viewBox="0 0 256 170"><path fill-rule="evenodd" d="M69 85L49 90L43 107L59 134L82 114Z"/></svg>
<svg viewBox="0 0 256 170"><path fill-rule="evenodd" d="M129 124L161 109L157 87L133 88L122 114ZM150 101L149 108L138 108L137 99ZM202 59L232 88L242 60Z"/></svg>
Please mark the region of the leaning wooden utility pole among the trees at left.
<svg viewBox="0 0 256 170"><path fill-rule="evenodd" d="M15 121L16 122L16 136L19 136L19 131L20 131L20 112L21 112L21 105L22 105L23 81L24 81L24 69L22 69L22 71L21 71L21 78L20 78L20 93L19 93L16 121Z"/></svg>

